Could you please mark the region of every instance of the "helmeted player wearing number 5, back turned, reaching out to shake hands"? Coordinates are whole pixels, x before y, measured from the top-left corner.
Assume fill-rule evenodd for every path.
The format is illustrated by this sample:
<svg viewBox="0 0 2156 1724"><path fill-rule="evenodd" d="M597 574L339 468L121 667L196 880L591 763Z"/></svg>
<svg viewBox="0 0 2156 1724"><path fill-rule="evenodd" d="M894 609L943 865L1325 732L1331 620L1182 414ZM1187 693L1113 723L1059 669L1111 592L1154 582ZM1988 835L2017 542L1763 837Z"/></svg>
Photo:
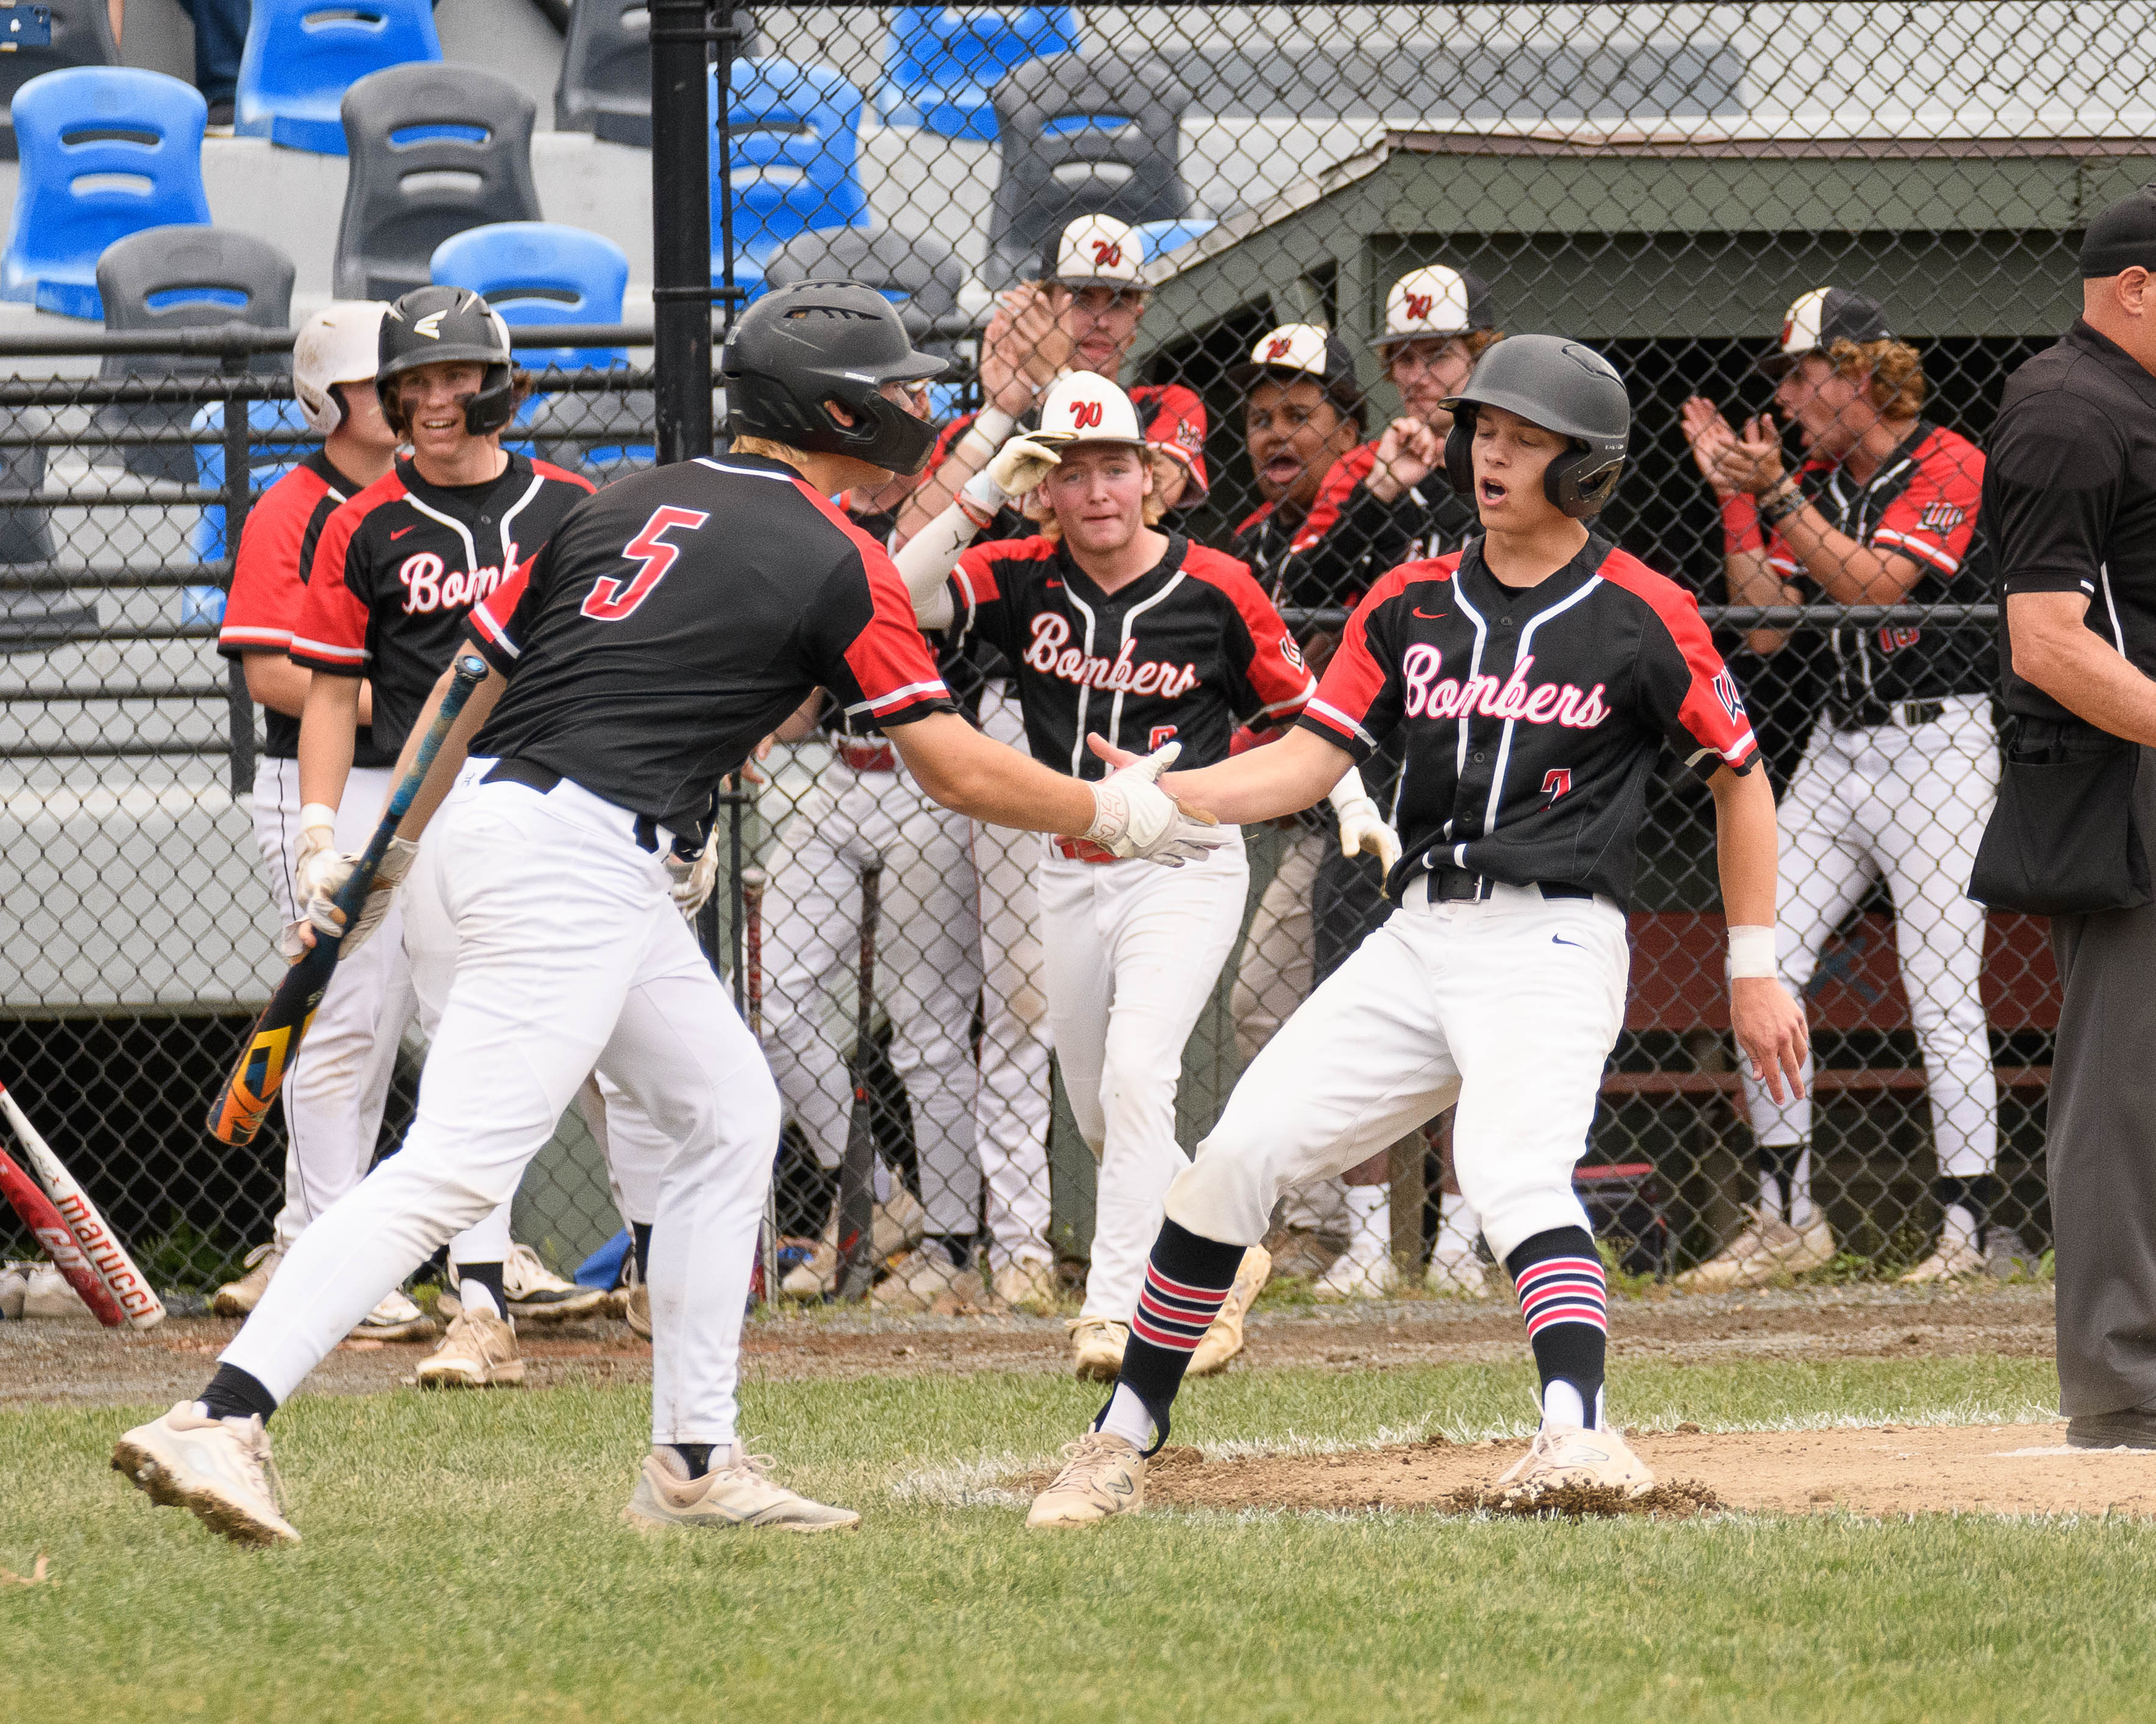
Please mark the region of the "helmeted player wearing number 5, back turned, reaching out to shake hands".
<svg viewBox="0 0 2156 1724"><path fill-rule="evenodd" d="M263 1420L384 1291L509 1198L597 1067L664 1140L645 1241L653 1448L625 1517L856 1524L776 1485L737 1440L778 1090L673 901L673 858L703 845L714 784L815 687L873 713L914 778L968 815L1171 866L1231 836L1158 787L1173 750L1080 782L951 709L903 582L830 504L918 468L934 437L921 384L942 369L873 289L763 295L727 347L733 450L586 498L472 608L466 644L492 675L403 821L403 843L427 834L410 884L377 890L347 935L405 896L414 959L442 972L416 976L423 996L446 985L418 1114L403 1151L300 1235L203 1399L121 1440L116 1463L160 1502L233 1539L295 1541Z"/></svg>

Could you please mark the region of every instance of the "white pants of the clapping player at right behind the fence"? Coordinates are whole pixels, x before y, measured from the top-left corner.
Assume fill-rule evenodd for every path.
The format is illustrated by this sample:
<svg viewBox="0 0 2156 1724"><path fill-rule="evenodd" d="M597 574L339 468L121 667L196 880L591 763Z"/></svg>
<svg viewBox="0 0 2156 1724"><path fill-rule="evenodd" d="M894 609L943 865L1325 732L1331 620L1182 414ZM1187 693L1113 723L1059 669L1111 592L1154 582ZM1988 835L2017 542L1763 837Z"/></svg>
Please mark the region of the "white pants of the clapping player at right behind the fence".
<svg viewBox="0 0 2156 1724"><path fill-rule="evenodd" d="M1781 976L1805 998L1820 948L1880 879L1923 1047L1938 1170L1999 1164L1999 1082L1984 1019L1984 905L1968 896L1977 843L1999 800L1990 700L1958 694L1934 724L1811 733L1781 800ZM1777 1106L1744 1071L1744 1108L1764 1144L1811 1140L1811 1058L1802 1099Z"/></svg>

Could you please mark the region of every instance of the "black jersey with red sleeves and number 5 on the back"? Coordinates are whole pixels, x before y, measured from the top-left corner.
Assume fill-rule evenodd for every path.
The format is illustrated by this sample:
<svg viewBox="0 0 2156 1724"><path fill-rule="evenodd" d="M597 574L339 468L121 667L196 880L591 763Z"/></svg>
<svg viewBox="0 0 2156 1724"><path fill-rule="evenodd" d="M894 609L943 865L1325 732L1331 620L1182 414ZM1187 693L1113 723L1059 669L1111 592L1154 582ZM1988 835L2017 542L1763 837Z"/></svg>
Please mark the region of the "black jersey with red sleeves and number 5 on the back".
<svg viewBox="0 0 2156 1724"><path fill-rule="evenodd" d="M466 631L509 679L474 754L675 832L817 687L884 731L955 711L884 547L761 455L608 485Z"/></svg>

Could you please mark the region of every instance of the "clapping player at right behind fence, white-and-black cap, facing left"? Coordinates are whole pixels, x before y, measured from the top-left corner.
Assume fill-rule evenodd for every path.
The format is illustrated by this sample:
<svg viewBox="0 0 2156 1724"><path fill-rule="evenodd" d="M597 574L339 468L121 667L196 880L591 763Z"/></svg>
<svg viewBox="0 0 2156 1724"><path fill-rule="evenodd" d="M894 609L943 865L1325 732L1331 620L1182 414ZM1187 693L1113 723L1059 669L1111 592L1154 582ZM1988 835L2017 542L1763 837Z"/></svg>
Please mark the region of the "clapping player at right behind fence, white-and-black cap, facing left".
<svg viewBox="0 0 2156 1724"><path fill-rule="evenodd" d="M1861 293L1820 287L1789 306L1761 360L1796 425L1787 474L1772 414L1740 437L1708 401L1686 433L1723 504L1736 603L1981 603L1973 558L1984 455L1923 418L1923 362ZM1755 634L1770 657L1798 651ZM1999 1185L1999 1090L1984 1013L1984 907L1968 896L1977 840L1999 795L1996 666L1988 627L1835 629L1820 653L1826 709L1781 802L1783 978L1805 991L1820 950L1880 881L1893 896L1910 1017L1923 1045L1938 1248L1904 1280L2012 1274L2029 1256L1990 1222ZM1746 1084L1759 1144L1759 1209L1686 1287L1757 1287L1818 1269L1835 1235L1811 1194L1811 1101L1774 1106Z"/></svg>

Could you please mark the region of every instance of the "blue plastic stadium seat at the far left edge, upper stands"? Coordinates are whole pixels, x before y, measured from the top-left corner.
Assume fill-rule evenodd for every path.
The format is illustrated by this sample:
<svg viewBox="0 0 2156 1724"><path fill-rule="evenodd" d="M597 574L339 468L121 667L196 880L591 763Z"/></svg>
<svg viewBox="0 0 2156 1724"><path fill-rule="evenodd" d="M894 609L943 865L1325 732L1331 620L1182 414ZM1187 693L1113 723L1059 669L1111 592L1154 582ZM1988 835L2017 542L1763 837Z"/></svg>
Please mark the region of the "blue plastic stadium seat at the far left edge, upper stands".
<svg viewBox="0 0 2156 1724"><path fill-rule="evenodd" d="M71 67L15 93L22 181L0 300L103 317L97 259L155 226L209 226L201 93L162 71Z"/></svg>

